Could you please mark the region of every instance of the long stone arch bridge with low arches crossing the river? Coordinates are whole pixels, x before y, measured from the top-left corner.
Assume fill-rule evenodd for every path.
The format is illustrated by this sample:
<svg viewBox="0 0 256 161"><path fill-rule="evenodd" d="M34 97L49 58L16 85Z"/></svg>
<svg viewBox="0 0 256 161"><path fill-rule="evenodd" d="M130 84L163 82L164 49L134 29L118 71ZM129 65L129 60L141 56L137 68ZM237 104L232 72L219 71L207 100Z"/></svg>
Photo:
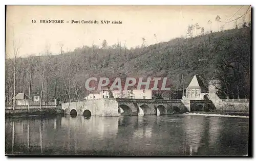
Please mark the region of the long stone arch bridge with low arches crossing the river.
<svg viewBox="0 0 256 161"><path fill-rule="evenodd" d="M205 104L197 101L198 105ZM101 98L79 102L62 103L64 114L91 116L144 116L185 113L190 111L190 100Z"/></svg>

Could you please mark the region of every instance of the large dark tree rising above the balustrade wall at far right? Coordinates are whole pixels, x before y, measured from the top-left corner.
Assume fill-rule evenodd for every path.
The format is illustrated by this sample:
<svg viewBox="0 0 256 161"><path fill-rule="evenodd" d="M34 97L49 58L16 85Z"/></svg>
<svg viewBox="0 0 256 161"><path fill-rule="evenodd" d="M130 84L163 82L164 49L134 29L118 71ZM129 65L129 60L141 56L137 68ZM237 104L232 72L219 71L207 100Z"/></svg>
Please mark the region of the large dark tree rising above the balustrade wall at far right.
<svg viewBox="0 0 256 161"><path fill-rule="evenodd" d="M221 80L221 88L216 88L226 98L241 98L249 93L246 91L249 89L250 31L247 28L233 31L236 33L214 42L215 77Z"/></svg>

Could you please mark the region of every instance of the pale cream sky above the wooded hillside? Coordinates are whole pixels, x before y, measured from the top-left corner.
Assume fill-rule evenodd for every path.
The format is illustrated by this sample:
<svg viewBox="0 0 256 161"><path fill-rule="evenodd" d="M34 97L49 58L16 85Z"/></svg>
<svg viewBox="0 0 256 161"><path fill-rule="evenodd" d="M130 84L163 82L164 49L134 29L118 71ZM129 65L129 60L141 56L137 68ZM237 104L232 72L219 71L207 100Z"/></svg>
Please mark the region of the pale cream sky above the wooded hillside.
<svg viewBox="0 0 256 161"><path fill-rule="evenodd" d="M218 30L216 16L221 17L224 29L234 28L234 21L250 6L7 6L6 54L13 56L13 42L19 47L18 56L41 55L46 46L53 54L73 51L83 45L101 46L121 43L127 47L169 41L185 36L189 24L198 23L205 32ZM250 8L244 16L250 20ZM64 23L39 23L56 19ZM36 20L32 23L32 20ZM72 20L99 21L98 24L71 23ZM100 20L122 21L122 24L100 24ZM211 25L207 24L212 21ZM66 21L69 21L68 23ZM240 18L238 23L242 23ZM200 30L197 31L197 34ZM195 32L194 32L195 34Z"/></svg>

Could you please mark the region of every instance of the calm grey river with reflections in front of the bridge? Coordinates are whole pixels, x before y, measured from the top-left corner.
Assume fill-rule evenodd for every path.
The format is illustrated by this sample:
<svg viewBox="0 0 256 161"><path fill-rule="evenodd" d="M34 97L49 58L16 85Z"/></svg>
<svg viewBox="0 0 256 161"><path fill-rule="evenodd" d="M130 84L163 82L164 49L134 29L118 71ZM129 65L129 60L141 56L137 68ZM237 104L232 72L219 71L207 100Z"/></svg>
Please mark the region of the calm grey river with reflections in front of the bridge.
<svg viewBox="0 0 256 161"><path fill-rule="evenodd" d="M246 155L248 118L194 115L6 118L6 154Z"/></svg>

